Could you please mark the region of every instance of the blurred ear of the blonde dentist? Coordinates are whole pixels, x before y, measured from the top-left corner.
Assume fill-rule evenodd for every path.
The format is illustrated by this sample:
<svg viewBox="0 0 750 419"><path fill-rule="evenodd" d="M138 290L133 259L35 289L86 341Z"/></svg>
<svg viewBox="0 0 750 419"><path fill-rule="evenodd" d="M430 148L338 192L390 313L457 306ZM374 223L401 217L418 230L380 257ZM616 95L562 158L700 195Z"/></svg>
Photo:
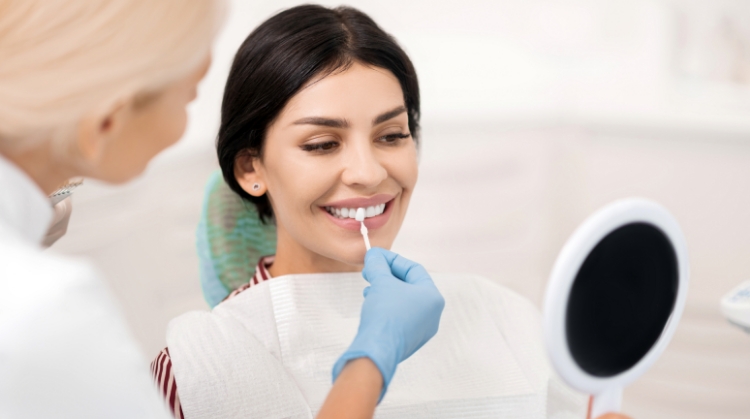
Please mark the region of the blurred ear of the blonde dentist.
<svg viewBox="0 0 750 419"><path fill-rule="evenodd" d="M128 118L129 101L116 102L106 112L90 112L78 124L76 147L88 163L99 162L107 145L120 133Z"/></svg>

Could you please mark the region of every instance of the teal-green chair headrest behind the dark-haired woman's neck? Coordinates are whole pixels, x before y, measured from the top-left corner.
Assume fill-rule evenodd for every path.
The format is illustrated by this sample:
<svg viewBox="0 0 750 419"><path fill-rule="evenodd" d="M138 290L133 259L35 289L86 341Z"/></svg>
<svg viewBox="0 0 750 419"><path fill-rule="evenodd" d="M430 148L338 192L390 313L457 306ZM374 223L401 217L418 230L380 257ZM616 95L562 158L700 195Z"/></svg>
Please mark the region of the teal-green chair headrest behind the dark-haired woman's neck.
<svg viewBox="0 0 750 419"><path fill-rule="evenodd" d="M210 307L253 277L262 256L276 253L276 226L229 189L221 170L206 183L196 231L203 297Z"/></svg>

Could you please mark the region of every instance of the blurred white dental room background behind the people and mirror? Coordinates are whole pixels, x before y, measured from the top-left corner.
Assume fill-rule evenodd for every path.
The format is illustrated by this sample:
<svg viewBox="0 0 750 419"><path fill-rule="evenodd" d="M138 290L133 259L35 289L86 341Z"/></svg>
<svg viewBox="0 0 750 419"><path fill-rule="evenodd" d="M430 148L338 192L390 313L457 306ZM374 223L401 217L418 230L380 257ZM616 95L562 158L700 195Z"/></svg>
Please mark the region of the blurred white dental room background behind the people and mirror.
<svg viewBox="0 0 750 419"><path fill-rule="evenodd" d="M182 142L136 182L76 192L55 249L98 264L149 357L169 319L207 308L194 231L234 52L297 4L234 0ZM393 34L420 77L420 182L395 250L539 305L578 223L618 198L655 199L687 236L691 290L667 352L626 390L625 412L750 417L750 335L718 311L750 277L750 2L345 4Z"/></svg>

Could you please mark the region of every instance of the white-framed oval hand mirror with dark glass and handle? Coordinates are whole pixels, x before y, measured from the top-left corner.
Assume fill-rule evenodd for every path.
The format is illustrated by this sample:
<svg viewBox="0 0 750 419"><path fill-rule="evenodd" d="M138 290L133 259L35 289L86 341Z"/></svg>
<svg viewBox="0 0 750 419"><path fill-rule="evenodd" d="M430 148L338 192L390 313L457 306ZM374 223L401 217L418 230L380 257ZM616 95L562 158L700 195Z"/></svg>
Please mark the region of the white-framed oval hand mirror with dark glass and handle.
<svg viewBox="0 0 750 419"><path fill-rule="evenodd" d="M688 277L677 221L647 200L610 204L568 239L547 286L545 343L560 376L594 396L590 417L618 412L623 387L664 351Z"/></svg>

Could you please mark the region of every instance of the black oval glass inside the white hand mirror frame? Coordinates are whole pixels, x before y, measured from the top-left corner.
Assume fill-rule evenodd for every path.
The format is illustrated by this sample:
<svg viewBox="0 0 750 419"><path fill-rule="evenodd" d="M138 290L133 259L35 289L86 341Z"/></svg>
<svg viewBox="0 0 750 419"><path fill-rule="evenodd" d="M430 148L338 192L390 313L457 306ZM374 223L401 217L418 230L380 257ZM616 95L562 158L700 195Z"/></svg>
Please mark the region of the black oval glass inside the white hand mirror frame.
<svg viewBox="0 0 750 419"><path fill-rule="evenodd" d="M570 353L587 373L627 371L654 346L677 299L677 257L647 223L607 234L573 281L565 313Z"/></svg>

